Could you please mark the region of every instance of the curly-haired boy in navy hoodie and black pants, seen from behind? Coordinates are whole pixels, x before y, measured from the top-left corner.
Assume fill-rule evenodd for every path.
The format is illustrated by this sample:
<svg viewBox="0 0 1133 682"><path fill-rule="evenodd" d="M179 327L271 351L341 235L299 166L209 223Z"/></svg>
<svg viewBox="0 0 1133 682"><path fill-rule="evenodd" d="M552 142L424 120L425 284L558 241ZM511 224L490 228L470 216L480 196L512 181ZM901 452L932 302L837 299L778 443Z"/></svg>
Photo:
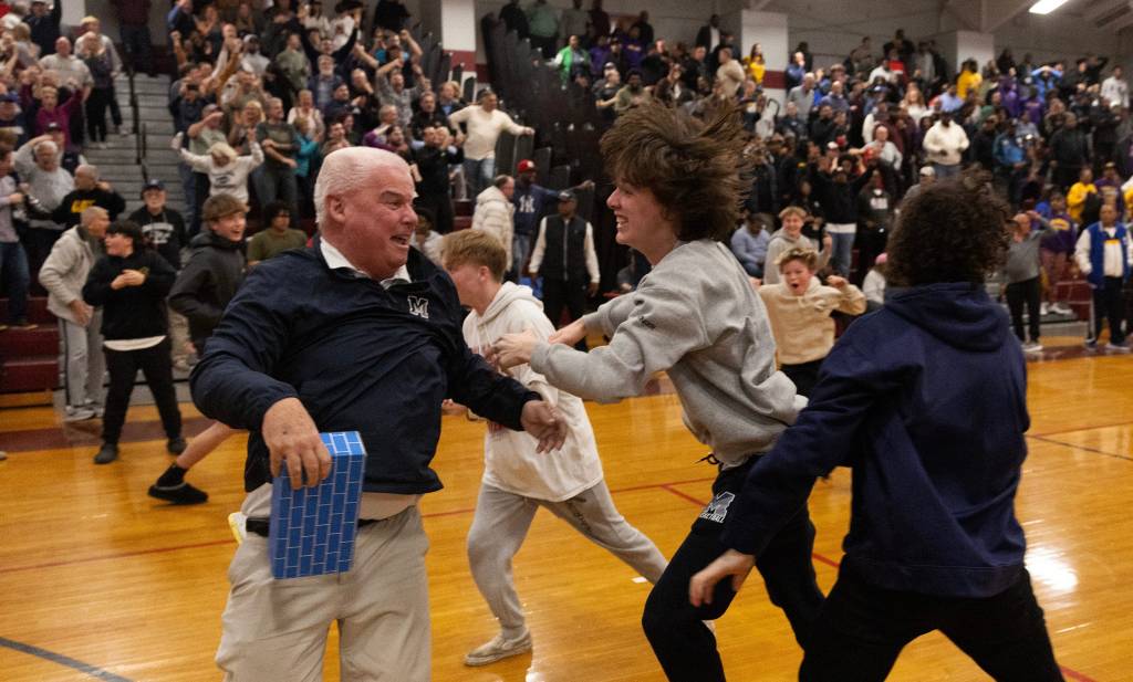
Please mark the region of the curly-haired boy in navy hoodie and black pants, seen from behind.
<svg viewBox="0 0 1133 682"><path fill-rule="evenodd" d="M845 556L800 680L884 680L901 649L932 630L996 680L1063 679L1014 512L1026 374L983 290L1003 258L1007 211L982 184L936 183L903 207L888 262L905 288L835 345L808 407L733 502L731 549L690 582L695 605L727 598L806 507L815 478L852 466Z"/></svg>

